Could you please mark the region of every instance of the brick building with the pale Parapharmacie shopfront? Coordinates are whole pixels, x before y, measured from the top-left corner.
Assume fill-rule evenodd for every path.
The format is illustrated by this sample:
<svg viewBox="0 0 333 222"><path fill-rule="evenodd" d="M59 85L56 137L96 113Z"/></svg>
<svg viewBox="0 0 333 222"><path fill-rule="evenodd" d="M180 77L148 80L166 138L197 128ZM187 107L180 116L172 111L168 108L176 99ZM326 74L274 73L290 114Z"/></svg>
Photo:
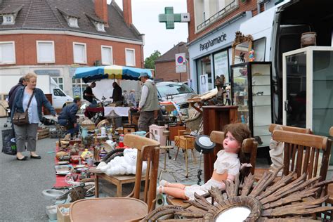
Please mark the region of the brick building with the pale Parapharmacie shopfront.
<svg viewBox="0 0 333 222"><path fill-rule="evenodd" d="M231 45L240 24L266 8L274 6L273 1L258 0L187 0L190 22L188 23L188 53L190 78L193 89L200 88L200 77L207 74L208 89L214 89L216 76L224 74L230 81ZM263 39L254 41L254 48L260 48Z"/></svg>

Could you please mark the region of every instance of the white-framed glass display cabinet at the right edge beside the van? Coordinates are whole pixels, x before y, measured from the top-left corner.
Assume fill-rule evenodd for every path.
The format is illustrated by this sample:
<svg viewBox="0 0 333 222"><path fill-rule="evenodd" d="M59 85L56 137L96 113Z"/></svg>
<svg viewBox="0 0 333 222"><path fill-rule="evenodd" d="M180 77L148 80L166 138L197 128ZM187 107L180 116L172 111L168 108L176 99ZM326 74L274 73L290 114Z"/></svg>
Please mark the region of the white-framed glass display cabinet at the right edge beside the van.
<svg viewBox="0 0 333 222"><path fill-rule="evenodd" d="M329 136L333 126L333 47L283 53L283 124Z"/></svg>

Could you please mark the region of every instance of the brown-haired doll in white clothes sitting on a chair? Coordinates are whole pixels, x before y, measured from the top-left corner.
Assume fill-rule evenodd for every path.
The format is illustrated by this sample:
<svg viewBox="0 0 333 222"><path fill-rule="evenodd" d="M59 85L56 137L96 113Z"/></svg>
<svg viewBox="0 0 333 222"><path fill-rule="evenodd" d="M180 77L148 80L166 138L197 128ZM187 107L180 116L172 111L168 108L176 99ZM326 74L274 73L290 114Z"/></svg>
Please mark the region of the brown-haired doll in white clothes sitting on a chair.
<svg viewBox="0 0 333 222"><path fill-rule="evenodd" d="M246 124L228 124L224 129L225 138L223 140L224 150L217 153L217 159L214 163L214 171L211 179L204 183L204 185L191 185L185 186L181 183L169 183L167 181L160 181L157 188L157 194L165 193L176 198L183 200L194 200L194 193L203 195L211 189L217 187L221 190L226 189L224 180L235 181L235 176L240 172L241 162L247 162L244 153L241 152L242 142L244 139L250 137L250 131ZM240 159L238 154L240 153ZM247 164L244 166L251 166ZM249 170L247 170L248 174Z"/></svg>

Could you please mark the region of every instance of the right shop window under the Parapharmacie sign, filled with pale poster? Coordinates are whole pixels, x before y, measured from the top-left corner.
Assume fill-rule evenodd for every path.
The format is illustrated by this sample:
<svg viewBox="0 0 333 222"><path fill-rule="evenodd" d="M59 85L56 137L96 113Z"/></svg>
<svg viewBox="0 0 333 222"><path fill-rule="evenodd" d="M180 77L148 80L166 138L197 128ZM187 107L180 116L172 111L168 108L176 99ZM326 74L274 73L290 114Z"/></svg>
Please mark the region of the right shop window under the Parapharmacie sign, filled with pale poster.
<svg viewBox="0 0 333 222"><path fill-rule="evenodd" d="M229 81L229 63L228 63L228 51L221 51L214 54L214 76L221 76L224 74L226 82Z"/></svg>

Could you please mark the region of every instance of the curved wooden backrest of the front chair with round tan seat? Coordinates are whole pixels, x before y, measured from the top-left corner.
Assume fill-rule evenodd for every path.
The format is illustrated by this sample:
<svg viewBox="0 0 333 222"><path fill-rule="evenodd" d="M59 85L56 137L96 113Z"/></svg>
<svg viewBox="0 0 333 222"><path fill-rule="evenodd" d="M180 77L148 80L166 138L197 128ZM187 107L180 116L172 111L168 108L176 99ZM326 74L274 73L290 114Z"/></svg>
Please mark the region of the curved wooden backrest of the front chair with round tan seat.
<svg viewBox="0 0 333 222"><path fill-rule="evenodd" d="M130 195L136 199L140 199L143 161L147 162L145 175L149 176L145 177L143 201L148 204L148 211L150 211L153 207L152 202L156 197L157 174L159 166L159 142L150 138L128 133L124 136L124 145L129 146L130 148L138 149L136 159L136 179L133 192Z"/></svg>

